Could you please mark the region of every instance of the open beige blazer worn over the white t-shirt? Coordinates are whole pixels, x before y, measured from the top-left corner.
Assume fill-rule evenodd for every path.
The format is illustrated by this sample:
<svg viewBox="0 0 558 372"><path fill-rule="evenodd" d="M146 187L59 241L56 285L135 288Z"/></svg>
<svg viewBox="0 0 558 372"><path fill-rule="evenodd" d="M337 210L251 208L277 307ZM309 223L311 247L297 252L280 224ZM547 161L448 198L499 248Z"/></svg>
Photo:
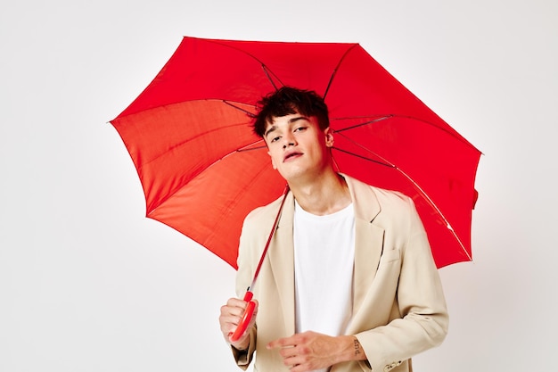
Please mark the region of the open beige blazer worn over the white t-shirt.
<svg viewBox="0 0 558 372"><path fill-rule="evenodd" d="M347 362L334 372L412 371L410 358L439 345L447 334L447 308L423 224L413 201L343 176L355 209L353 313L347 335L356 335L366 362ZM252 280L281 200L258 208L242 227L236 292L242 298ZM252 292L259 302L257 330L248 351L234 351L247 368L254 351L255 371L288 370L266 344L295 331L292 219L287 195L275 236ZM319 249L319 247L316 247ZM324 268L327 274L327 268Z"/></svg>

